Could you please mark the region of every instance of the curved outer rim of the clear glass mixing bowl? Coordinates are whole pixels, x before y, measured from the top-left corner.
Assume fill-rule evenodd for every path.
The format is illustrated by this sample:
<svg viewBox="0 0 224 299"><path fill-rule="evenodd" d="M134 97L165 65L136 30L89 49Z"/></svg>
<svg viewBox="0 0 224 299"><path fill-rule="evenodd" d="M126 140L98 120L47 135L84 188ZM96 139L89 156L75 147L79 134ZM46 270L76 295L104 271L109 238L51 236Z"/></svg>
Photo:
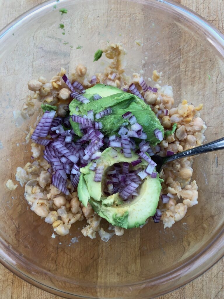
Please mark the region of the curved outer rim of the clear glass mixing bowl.
<svg viewBox="0 0 224 299"><path fill-rule="evenodd" d="M38 14L41 10L44 10L47 7L51 7L52 4L59 5L59 3L62 4L64 1L66 2L67 0L60 0L60 2L54 1L54 0L48 0L48 1L45 1L39 5L31 8L30 10L27 10L25 13L18 16L16 19L14 19L12 22L10 22L8 25L6 25L3 29L0 30L0 40L8 32L13 30L13 28L15 28L17 25L19 25L24 19L27 19L35 14ZM97 1L97 0L89 0L89 1ZM120 0L120 1L136 2L136 0ZM164 3L164 5L167 5L167 8L170 11L176 11L179 13L179 15L185 16L186 19L191 20L193 23L197 24L197 27L200 27L200 29L203 29L205 32L209 33L211 42L213 40L216 41L216 44L218 45L217 50L220 52L220 54L222 54L224 56L224 34L221 33L220 30L218 30L214 25L212 25L210 22L208 22L202 16L195 13L193 10L183 6L182 4L174 2L172 0L167 0L167 1L165 1L165 0L137 0L137 1L142 4L154 3L155 6L158 6L158 5L161 5L161 3ZM61 291L59 289L56 289L56 288L53 288L46 284L43 284L40 281L35 280L34 278L23 273L16 266L13 266L13 263L10 262L10 260L12 261L12 259L10 258L10 256L7 255L7 253L4 249L6 249L6 246L4 245L4 241L0 238L0 263L3 266L5 266L8 270L13 272L13 274L16 274L18 277L22 278L26 282L31 283L32 285L34 285L40 289L43 289L47 292L50 292L50 293L53 293L55 295L59 295L62 297L66 296L66 298L84 298L84 297L82 297L82 295L75 295L71 292ZM197 278L201 274L203 274L205 271L210 269L212 266L214 266L214 264L217 263L223 257L223 255L224 255L224 227L222 228L220 233L217 234L216 237L205 247L205 249L202 252L200 252L199 254L196 254L190 261L188 261L187 263L184 263L179 268L176 268L169 273L171 275L170 277L173 280L173 282L176 282L175 284L173 284L173 285L175 285L173 288L166 289L166 291L160 292L156 295L153 295L153 297L150 297L150 298L154 298L155 296L164 295L168 292L174 291L175 289L178 289L179 287L191 282L192 280L194 280L195 278ZM206 266L205 266L205 263L203 263L205 260L205 257L207 258ZM189 263L191 263L191 267L189 267ZM192 269L194 269L194 270L200 269L200 270L196 271L196 274L194 274L194 276L190 276L190 278L187 278L186 280L184 280L184 282L181 282L181 281L178 282L178 279L179 279L178 276L180 273L181 274L184 273L184 275L182 275L182 277L185 277L187 274L191 273ZM164 275L162 275L162 276L164 276ZM162 277L162 276L161 276L161 280L160 280L161 283L165 282L165 280L163 280L164 277ZM134 285L133 285L133 283L126 284L126 285L122 285L120 287L122 288L125 286L132 285L133 288L136 287L139 289L139 288L144 287L145 289L148 289L148 291L149 291L152 289L152 286L154 286L153 281L152 281L152 283L150 283L150 282L147 283L147 281L146 282L144 281L144 282L138 282ZM158 282L158 280L157 280L157 282ZM129 295L129 298L131 299L130 295ZM69 296L69 297L67 297L67 296ZM85 298L87 298L87 297L85 297ZM94 299L93 297L88 297L88 298Z"/></svg>

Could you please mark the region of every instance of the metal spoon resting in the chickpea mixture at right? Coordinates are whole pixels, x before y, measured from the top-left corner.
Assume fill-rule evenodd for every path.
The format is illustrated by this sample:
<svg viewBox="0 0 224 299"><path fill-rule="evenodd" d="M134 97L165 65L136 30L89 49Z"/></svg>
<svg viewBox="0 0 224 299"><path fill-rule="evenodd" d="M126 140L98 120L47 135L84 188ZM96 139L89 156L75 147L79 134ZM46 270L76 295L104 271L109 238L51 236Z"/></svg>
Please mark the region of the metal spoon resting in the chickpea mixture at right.
<svg viewBox="0 0 224 299"><path fill-rule="evenodd" d="M192 149L187 149L183 152L178 152L177 154L174 154L174 155L171 155L168 157L160 157L159 155L154 155L154 156L151 156L150 158L154 162L156 162L156 164L157 164L156 170L158 172L160 172L162 169L162 166L168 162L171 162L171 161L174 161L177 159L181 159L181 158L185 158L185 157L203 154L205 152L212 152L212 151L219 150L219 149L224 149L224 137L217 139L215 141L211 141L209 143L200 145L199 147L194 147Z"/></svg>

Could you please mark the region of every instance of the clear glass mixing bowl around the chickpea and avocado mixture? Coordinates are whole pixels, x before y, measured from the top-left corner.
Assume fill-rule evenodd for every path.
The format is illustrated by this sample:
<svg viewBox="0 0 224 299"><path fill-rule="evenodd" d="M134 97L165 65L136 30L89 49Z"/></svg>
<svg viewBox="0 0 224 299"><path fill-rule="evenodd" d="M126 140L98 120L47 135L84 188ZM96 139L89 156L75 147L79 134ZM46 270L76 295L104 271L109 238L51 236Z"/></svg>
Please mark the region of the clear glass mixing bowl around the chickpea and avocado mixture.
<svg viewBox="0 0 224 299"><path fill-rule="evenodd" d="M78 62L93 75L108 63L104 57L93 63L93 53L108 42L127 49L127 74L141 71L148 78L157 69L173 86L177 104L203 103L207 141L223 137L224 40L200 16L155 0L47 1L33 8L0 36L1 263L66 298L152 298L188 283L223 256L223 152L195 158L199 203L180 222L165 230L149 222L107 243L83 237L84 222L53 239L51 226L27 207L23 188L10 192L4 186L15 180L16 167L30 161L24 138L35 117L19 118L27 81L50 79L62 66L72 72Z"/></svg>

